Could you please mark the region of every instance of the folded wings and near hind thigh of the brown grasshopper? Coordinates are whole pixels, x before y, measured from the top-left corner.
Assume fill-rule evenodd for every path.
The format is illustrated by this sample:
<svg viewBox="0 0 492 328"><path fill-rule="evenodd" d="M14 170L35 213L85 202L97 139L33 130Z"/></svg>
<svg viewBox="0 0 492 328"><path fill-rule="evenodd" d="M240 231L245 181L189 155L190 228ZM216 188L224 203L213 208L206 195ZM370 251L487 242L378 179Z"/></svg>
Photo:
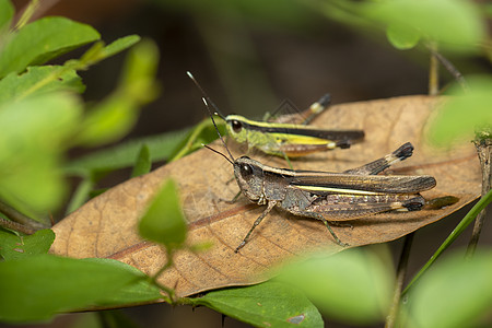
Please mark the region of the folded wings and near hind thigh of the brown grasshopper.
<svg viewBox="0 0 492 328"><path fill-rule="evenodd" d="M391 210L420 210L425 199L420 191L435 186L432 176L375 176L307 173L290 183L309 203L296 214L328 221L359 219ZM316 213L316 214L313 214Z"/></svg>

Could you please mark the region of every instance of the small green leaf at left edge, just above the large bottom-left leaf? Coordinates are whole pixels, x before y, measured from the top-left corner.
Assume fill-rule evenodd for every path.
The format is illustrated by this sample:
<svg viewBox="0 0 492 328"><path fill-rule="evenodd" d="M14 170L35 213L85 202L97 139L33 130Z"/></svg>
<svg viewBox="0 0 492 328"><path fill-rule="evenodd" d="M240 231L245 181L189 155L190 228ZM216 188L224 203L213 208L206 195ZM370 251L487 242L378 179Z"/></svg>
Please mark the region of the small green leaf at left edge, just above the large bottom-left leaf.
<svg viewBox="0 0 492 328"><path fill-rule="evenodd" d="M47 254L54 241L55 233L49 229L40 230L30 236L19 236L0 230L0 257L4 260L13 260Z"/></svg>

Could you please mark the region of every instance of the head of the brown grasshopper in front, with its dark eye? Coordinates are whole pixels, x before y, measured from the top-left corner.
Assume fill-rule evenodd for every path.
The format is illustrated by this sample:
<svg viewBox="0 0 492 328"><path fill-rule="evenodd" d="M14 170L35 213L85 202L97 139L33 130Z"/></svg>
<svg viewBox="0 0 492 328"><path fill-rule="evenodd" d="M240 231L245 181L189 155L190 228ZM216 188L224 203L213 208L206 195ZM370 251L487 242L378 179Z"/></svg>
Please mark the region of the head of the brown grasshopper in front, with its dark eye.
<svg viewBox="0 0 492 328"><path fill-rule="evenodd" d="M234 161L234 175L241 191L251 201L262 199L263 171L261 164L247 156Z"/></svg>

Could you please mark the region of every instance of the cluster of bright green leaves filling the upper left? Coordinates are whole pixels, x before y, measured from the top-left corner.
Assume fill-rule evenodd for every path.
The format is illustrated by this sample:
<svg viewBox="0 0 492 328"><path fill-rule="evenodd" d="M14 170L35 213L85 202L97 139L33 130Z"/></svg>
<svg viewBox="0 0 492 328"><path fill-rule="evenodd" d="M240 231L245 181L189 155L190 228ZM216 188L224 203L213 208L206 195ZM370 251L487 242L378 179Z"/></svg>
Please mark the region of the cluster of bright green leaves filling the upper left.
<svg viewBox="0 0 492 328"><path fill-rule="evenodd" d="M9 1L0 5L11 8ZM85 86L77 71L125 50L140 38L128 36L108 46L97 42L81 59L62 66L40 66L98 40L99 34L63 17L45 17L9 30L14 13L2 13L0 199L39 220L66 198L68 188L61 169L65 153L74 145L99 145L120 139L134 125L138 108L155 98L157 52L151 42L133 48L117 91L84 113L77 93Z"/></svg>

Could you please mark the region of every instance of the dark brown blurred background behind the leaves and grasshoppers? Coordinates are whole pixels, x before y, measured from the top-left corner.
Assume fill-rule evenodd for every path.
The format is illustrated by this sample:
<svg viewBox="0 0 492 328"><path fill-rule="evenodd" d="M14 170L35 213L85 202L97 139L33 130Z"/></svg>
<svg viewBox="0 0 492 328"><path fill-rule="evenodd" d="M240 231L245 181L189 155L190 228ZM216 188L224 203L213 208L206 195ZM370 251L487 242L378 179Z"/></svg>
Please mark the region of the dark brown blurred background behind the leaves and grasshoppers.
<svg viewBox="0 0 492 328"><path fill-rule="evenodd" d="M19 9L27 3L13 2ZM192 126L206 117L200 93L185 73L188 70L223 113L257 118L284 99L305 108L327 92L335 104L427 92L429 54L424 48L397 50L383 31L342 24L317 4L284 0L45 0L39 13L87 23L106 43L138 34L159 45L161 96L142 110L127 139ZM87 102L101 99L114 89L124 58L120 54L80 72L87 85ZM480 58L453 59L465 73L490 71ZM444 86L452 77L442 71ZM417 233L411 273L465 213ZM490 245L491 229L485 224L484 230L489 235L482 235L483 244ZM457 244L466 245L470 232ZM401 241L389 245L397 258ZM222 321L222 315L211 309L189 306L162 304L124 313L141 327L248 327L232 318ZM65 315L49 325L28 327L98 327L93 319L92 314ZM330 318L325 323L345 327Z"/></svg>

